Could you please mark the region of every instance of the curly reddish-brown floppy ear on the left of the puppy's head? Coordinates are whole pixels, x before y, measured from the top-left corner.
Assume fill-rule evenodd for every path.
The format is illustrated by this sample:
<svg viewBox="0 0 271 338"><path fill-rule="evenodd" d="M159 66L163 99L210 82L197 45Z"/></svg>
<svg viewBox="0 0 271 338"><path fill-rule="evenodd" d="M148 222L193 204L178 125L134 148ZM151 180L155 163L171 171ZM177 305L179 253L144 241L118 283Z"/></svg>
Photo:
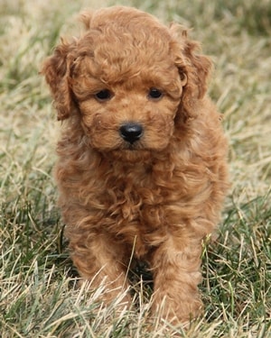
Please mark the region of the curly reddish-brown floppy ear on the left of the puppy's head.
<svg viewBox="0 0 271 338"><path fill-rule="evenodd" d="M42 65L42 75L51 88L51 96L58 112L58 120L68 118L75 108L69 86L70 63L73 57L70 55L71 44L61 42L51 57L45 59Z"/></svg>

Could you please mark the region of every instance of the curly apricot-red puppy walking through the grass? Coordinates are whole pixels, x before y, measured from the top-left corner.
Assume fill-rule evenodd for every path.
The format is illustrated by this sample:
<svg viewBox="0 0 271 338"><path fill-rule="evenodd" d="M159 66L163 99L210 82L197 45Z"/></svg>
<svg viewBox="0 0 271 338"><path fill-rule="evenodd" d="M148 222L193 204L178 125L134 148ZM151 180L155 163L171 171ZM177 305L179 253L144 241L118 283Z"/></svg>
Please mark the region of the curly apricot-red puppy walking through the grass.
<svg viewBox="0 0 271 338"><path fill-rule="evenodd" d="M228 187L210 59L180 26L133 8L81 20L86 32L42 67L63 121L55 176L71 258L106 302L128 287L131 256L147 262L154 312L186 322L201 310L201 243Z"/></svg>

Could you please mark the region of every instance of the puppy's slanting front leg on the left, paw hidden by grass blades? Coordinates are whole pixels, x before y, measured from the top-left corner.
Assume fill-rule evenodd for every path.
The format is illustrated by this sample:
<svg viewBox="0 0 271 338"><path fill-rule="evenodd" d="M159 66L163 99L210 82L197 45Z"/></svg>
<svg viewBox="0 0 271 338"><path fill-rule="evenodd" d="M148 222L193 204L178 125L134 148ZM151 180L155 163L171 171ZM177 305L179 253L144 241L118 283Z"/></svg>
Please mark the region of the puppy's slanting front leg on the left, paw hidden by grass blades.
<svg viewBox="0 0 271 338"><path fill-rule="evenodd" d="M114 245L104 235L93 238L85 236L79 242L70 237L70 254L83 280L89 282L89 290L101 288L101 301L109 304L119 300L129 306L131 299L127 293L126 266L120 247Z"/></svg>

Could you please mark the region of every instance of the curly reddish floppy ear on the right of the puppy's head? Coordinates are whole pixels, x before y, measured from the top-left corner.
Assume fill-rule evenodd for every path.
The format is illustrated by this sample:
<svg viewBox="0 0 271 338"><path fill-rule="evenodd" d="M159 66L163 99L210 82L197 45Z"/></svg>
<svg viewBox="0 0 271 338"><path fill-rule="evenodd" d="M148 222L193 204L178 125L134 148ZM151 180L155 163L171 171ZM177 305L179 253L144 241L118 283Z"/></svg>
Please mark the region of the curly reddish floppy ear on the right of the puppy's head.
<svg viewBox="0 0 271 338"><path fill-rule="evenodd" d="M173 36L172 53L181 79L187 78L182 88L182 112L187 117L194 117L197 112L193 111L192 106L207 91L212 63L210 58L198 53L201 50L200 44L190 41L187 31L180 28L178 24L170 27Z"/></svg>

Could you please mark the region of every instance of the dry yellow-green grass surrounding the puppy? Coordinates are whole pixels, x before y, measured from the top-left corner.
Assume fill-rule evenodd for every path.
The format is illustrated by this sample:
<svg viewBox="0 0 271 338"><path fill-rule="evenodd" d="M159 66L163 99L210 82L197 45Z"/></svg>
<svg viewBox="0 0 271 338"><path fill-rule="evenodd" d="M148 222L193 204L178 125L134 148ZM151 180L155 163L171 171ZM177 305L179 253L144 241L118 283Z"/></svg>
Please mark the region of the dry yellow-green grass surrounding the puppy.
<svg viewBox="0 0 271 338"><path fill-rule="evenodd" d="M218 242L203 253L206 310L187 333L139 307L99 308L75 288L51 178L58 123L38 75L89 2L0 0L0 335L13 337L271 337L271 4L269 0L137 0L192 27L216 65L210 96L225 116L232 188ZM114 5L104 1L103 5Z"/></svg>

